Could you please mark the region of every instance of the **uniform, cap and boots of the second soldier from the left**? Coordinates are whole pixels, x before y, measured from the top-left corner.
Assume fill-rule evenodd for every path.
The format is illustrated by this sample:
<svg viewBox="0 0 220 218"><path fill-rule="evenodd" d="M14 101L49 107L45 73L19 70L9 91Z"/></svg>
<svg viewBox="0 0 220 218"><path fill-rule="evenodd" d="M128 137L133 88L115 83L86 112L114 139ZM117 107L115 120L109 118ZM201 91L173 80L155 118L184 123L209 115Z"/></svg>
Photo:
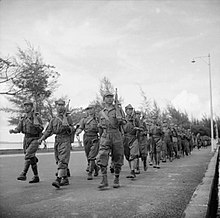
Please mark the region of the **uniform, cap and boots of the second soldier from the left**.
<svg viewBox="0 0 220 218"><path fill-rule="evenodd" d="M58 100L56 105L65 106L65 101ZM67 123L64 123L64 120ZM50 120L50 123L43 133L40 140L45 140L51 135L55 134L54 153L57 164L57 179L52 183L53 186L59 188L63 185L68 185L69 180L67 178L67 169L70 160L71 140L72 134L74 134L75 128L73 127L73 121L70 115L58 113L56 117Z"/></svg>

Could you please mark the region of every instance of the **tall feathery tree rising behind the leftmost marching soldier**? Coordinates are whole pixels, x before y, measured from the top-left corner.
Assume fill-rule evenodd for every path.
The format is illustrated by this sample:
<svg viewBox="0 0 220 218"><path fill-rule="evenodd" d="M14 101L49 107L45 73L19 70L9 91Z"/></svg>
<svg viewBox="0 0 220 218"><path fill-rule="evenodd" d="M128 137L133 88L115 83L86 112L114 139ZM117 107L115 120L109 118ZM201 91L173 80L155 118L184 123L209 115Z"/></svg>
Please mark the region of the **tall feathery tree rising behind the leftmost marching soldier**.
<svg viewBox="0 0 220 218"><path fill-rule="evenodd" d="M57 78L59 73L56 72L54 66L45 64L42 55L33 46L27 44L26 49L18 47L16 57L10 58L8 69L10 68L10 76L5 81L8 87L6 94L9 102L14 108L1 108L5 112L12 113L9 118L9 124L14 125L18 122L18 117L23 109L23 102L30 99L35 104L35 109L42 115L46 121L48 118L47 110L48 99L52 97L52 93L58 87ZM7 67L2 68L8 72ZM10 94L9 94L10 93Z"/></svg>

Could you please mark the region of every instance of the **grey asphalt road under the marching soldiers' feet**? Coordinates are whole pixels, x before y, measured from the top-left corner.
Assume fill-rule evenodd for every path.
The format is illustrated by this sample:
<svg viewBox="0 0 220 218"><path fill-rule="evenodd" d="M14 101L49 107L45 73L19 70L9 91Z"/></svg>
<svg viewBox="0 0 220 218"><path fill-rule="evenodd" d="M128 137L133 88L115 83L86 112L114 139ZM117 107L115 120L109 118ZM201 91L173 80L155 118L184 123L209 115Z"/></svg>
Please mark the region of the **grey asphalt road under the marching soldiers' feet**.
<svg viewBox="0 0 220 218"><path fill-rule="evenodd" d="M52 153L38 154L40 183L17 181L23 168L23 155L0 155L0 217L39 218L178 218L181 217L197 185L202 181L212 157L210 149L194 150L190 156L161 163L161 169L149 166L135 180L126 178L128 164L122 168L121 187L99 191L101 176L86 179L84 152L72 152L70 185L57 190L56 165Z"/></svg>

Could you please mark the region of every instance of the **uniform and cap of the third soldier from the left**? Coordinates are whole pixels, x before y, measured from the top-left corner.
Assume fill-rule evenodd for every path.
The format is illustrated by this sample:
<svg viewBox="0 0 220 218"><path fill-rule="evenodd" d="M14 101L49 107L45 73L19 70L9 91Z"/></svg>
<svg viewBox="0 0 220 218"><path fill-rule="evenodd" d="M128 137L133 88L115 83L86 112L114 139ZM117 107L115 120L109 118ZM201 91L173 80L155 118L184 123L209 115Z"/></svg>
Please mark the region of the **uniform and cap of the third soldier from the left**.
<svg viewBox="0 0 220 218"><path fill-rule="evenodd" d="M94 109L94 106L89 105L85 110ZM82 118L79 127L76 130L76 135L79 135L84 130L83 144L86 158L88 161L88 180L92 180L92 173L95 170L94 176L98 176L98 166L95 163L96 156L99 151L99 136L98 136L98 120L93 116L88 115Z"/></svg>

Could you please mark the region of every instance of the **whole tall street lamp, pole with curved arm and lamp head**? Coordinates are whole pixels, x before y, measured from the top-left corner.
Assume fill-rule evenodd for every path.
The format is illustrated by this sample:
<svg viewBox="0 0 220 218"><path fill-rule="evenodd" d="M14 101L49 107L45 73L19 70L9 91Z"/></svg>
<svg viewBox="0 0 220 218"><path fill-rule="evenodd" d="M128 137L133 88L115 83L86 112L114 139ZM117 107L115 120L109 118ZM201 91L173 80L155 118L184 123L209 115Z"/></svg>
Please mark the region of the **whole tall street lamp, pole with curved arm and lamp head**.
<svg viewBox="0 0 220 218"><path fill-rule="evenodd" d="M208 62L205 60L208 58ZM213 107L212 107L212 77L211 77L211 56L208 54L208 56L199 56L194 57L192 59L192 63L196 62L196 59L201 59L206 64L208 64L209 67L209 94L210 94L210 115L211 115L211 152L214 151L214 134L213 134Z"/></svg>

